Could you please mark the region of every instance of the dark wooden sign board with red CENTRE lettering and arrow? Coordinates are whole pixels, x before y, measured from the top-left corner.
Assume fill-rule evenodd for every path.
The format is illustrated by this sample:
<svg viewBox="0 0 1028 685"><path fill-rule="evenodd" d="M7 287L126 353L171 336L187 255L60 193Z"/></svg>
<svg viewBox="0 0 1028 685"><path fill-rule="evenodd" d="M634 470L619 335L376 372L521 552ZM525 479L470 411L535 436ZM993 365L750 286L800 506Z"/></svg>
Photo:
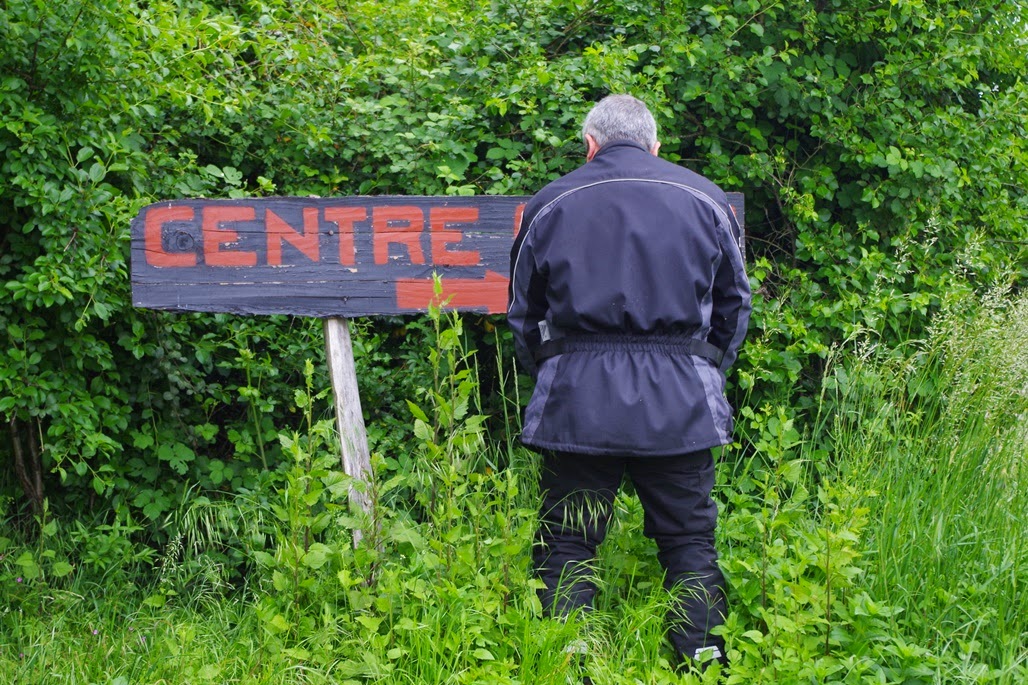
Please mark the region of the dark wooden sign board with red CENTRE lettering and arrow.
<svg viewBox="0 0 1028 685"><path fill-rule="evenodd" d="M181 200L132 224L133 304L359 317L424 312L433 274L452 309L507 310L527 197ZM742 195L730 193L742 217ZM741 221L740 221L741 223Z"/></svg>

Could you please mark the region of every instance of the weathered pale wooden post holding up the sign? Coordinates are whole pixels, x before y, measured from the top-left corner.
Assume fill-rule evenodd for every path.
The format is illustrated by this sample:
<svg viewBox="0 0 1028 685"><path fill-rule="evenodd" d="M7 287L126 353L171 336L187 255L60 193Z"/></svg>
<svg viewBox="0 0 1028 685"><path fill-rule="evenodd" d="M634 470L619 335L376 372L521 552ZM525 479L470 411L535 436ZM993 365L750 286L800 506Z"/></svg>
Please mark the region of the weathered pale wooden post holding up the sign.
<svg viewBox="0 0 1028 685"><path fill-rule="evenodd" d="M325 319L325 357L332 377L335 398L335 424L342 447L342 470L364 483L364 489L350 489L350 501L361 511L371 514L371 456L368 434L361 412L361 396L357 389L357 367L350 340L350 321L342 317ZM354 546L364 535L354 530Z"/></svg>

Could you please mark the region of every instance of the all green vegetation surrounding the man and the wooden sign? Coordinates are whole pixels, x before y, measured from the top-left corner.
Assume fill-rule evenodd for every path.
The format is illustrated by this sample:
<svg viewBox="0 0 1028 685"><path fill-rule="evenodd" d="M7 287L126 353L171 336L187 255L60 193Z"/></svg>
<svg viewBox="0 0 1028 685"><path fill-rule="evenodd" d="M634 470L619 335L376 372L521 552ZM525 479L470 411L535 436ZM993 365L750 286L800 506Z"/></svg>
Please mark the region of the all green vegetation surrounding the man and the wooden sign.
<svg viewBox="0 0 1028 685"><path fill-rule="evenodd" d="M150 202L529 194L612 91L746 195L723 675L1028 677L1021 3L0 9L0 680L678 682L630 496L599 610L539 616L501 320L358 324L368 521L318 322L130 299Z"/></svg>

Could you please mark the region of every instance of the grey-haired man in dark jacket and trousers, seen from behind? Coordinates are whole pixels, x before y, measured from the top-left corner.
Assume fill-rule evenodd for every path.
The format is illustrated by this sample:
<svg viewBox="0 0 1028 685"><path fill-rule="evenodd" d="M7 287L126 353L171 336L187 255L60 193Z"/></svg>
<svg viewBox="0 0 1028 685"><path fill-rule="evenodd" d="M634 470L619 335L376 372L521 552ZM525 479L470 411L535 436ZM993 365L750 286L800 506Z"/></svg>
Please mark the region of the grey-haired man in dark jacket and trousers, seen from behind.
<svg viewBox="0 0 1028 685"><path fill-rule="evenodd" d="M586 164L525 207L508 322L536 380L521 440L543 455L536 570L558 615L588 610L588 567L627 473L659 548L678 654L723 659L710 448L731 441L725 371L749 318L741 230L725 193L660 159L646 105L609 96Z"/></svg>

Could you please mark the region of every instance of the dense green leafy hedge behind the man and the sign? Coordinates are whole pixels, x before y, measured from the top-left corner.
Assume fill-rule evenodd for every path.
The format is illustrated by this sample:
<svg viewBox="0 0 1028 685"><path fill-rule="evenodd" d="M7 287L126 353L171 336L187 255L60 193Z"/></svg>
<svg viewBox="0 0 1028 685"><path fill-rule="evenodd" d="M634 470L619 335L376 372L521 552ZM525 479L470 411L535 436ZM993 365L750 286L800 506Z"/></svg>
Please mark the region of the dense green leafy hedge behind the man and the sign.
<svg viewBox="0 0 1028 685"><path fill-rule="evenodd" d="M40 540L28 557L16 555L25 562L19 577L57 582L84 570L175 568L158 562L183 558L197 530L210 541L266 511L272 493L306 486L318 469L301 457L316 450L300 449L291 431L309 422L303 439L321 436L330 450L333 438L313 428L330 412L317 392L328 385L317 321L131 307L128 222L156 200L528 194L581 163L578 127L592 102L633 93L658 116L664 155L746 195L755 316L732 378L739 444L725 464L737 476L754 464L784 474L788 497L799 467L782 465L797 463L818 407L832 401L820 383L840 348L870 340L896 349L968 293L1017 289L1028 277L1028 17L1014 0L0 7L0 516L17 532L0 540ZM463 448L440 437L438 422L426 428L434 417L426 412L438 406L431 389L440 361L426 351L438 339L436 324L378 319L360 322L355 335L379 497L389 506L414 499L403 509L414 520L443 515L416 501L424 484L436 492L442 482L453 496L466 475L426 480L418 470L429 444L441 441L442 454ZM506 443L517 410L501 395L516 398L518 390L499 380L498 369L510 375L502 322L469 319L461 337L479 349L484 389L475 407L477 386L458 378L463 412L488 418L457 435L478 444L487 429ZM405 400L424 419L411 418ZM835 439L825 436L803 458L825 467L841 459ZM500 484L505 465L527 459L517 449L488 454L488 464L462 467L484 478L483 488L510 486ZM326 477L328 492L341 486ZM781 490L739 478L760 485L740 497ZM509 495L500 500L525 505L523 488ZM865 526L857 514L832 513L846 497L824 495L825 515L838 518L827 549L847 548L847 536ZM819 507L786 501L796 506L780 510L786 518ZM756 505L734 506L741 515ZM761 511L751 513L769 515ZM283 530L307 531L309 553L309 536L327 519L279 513ZM519 515L510 527L524 524ZM471 535L456 513L446 516L453 535ZM43 544L58 520L78 545L74 554ZM404 553L430 544L397 526L394 536L409 537ZM510 527L505 535L524 533ZM270 528L247 534L272 539ZM726 530L727 540L754 542L735 537L744 527ZM797 561L816 557L820 542L794 542L772 549L811 578L853 582ZM184 547L176 552L176 544ZM523 552L524 541L505 544ZM212 577L244 584L260 545L216 546ZM301 560L318 570L325 558L283 553L260 562L269 578L280 574L273 586L288 585L276 566L286 565L294 596L320 597L314 585L299 588L296 571ZM342 560L333 563L338 570ZM381 573L390 564L397 562L380 563ZM343 583L356 588L355 578ZM168 571L162 591L149 597L172 598L182 582ZM869 624L885 620L854 598L841 610ZM745 616L756 615L755 598L739 599L752 609ZM283 611L263 607L262 620L295 635L299 623ZM816 620L807 618L798 630L813 635ZM740 627L747 629L757 627ZM854 641L845 647L856 653ZM963 653L974 660L970 643Z"/></svg>

